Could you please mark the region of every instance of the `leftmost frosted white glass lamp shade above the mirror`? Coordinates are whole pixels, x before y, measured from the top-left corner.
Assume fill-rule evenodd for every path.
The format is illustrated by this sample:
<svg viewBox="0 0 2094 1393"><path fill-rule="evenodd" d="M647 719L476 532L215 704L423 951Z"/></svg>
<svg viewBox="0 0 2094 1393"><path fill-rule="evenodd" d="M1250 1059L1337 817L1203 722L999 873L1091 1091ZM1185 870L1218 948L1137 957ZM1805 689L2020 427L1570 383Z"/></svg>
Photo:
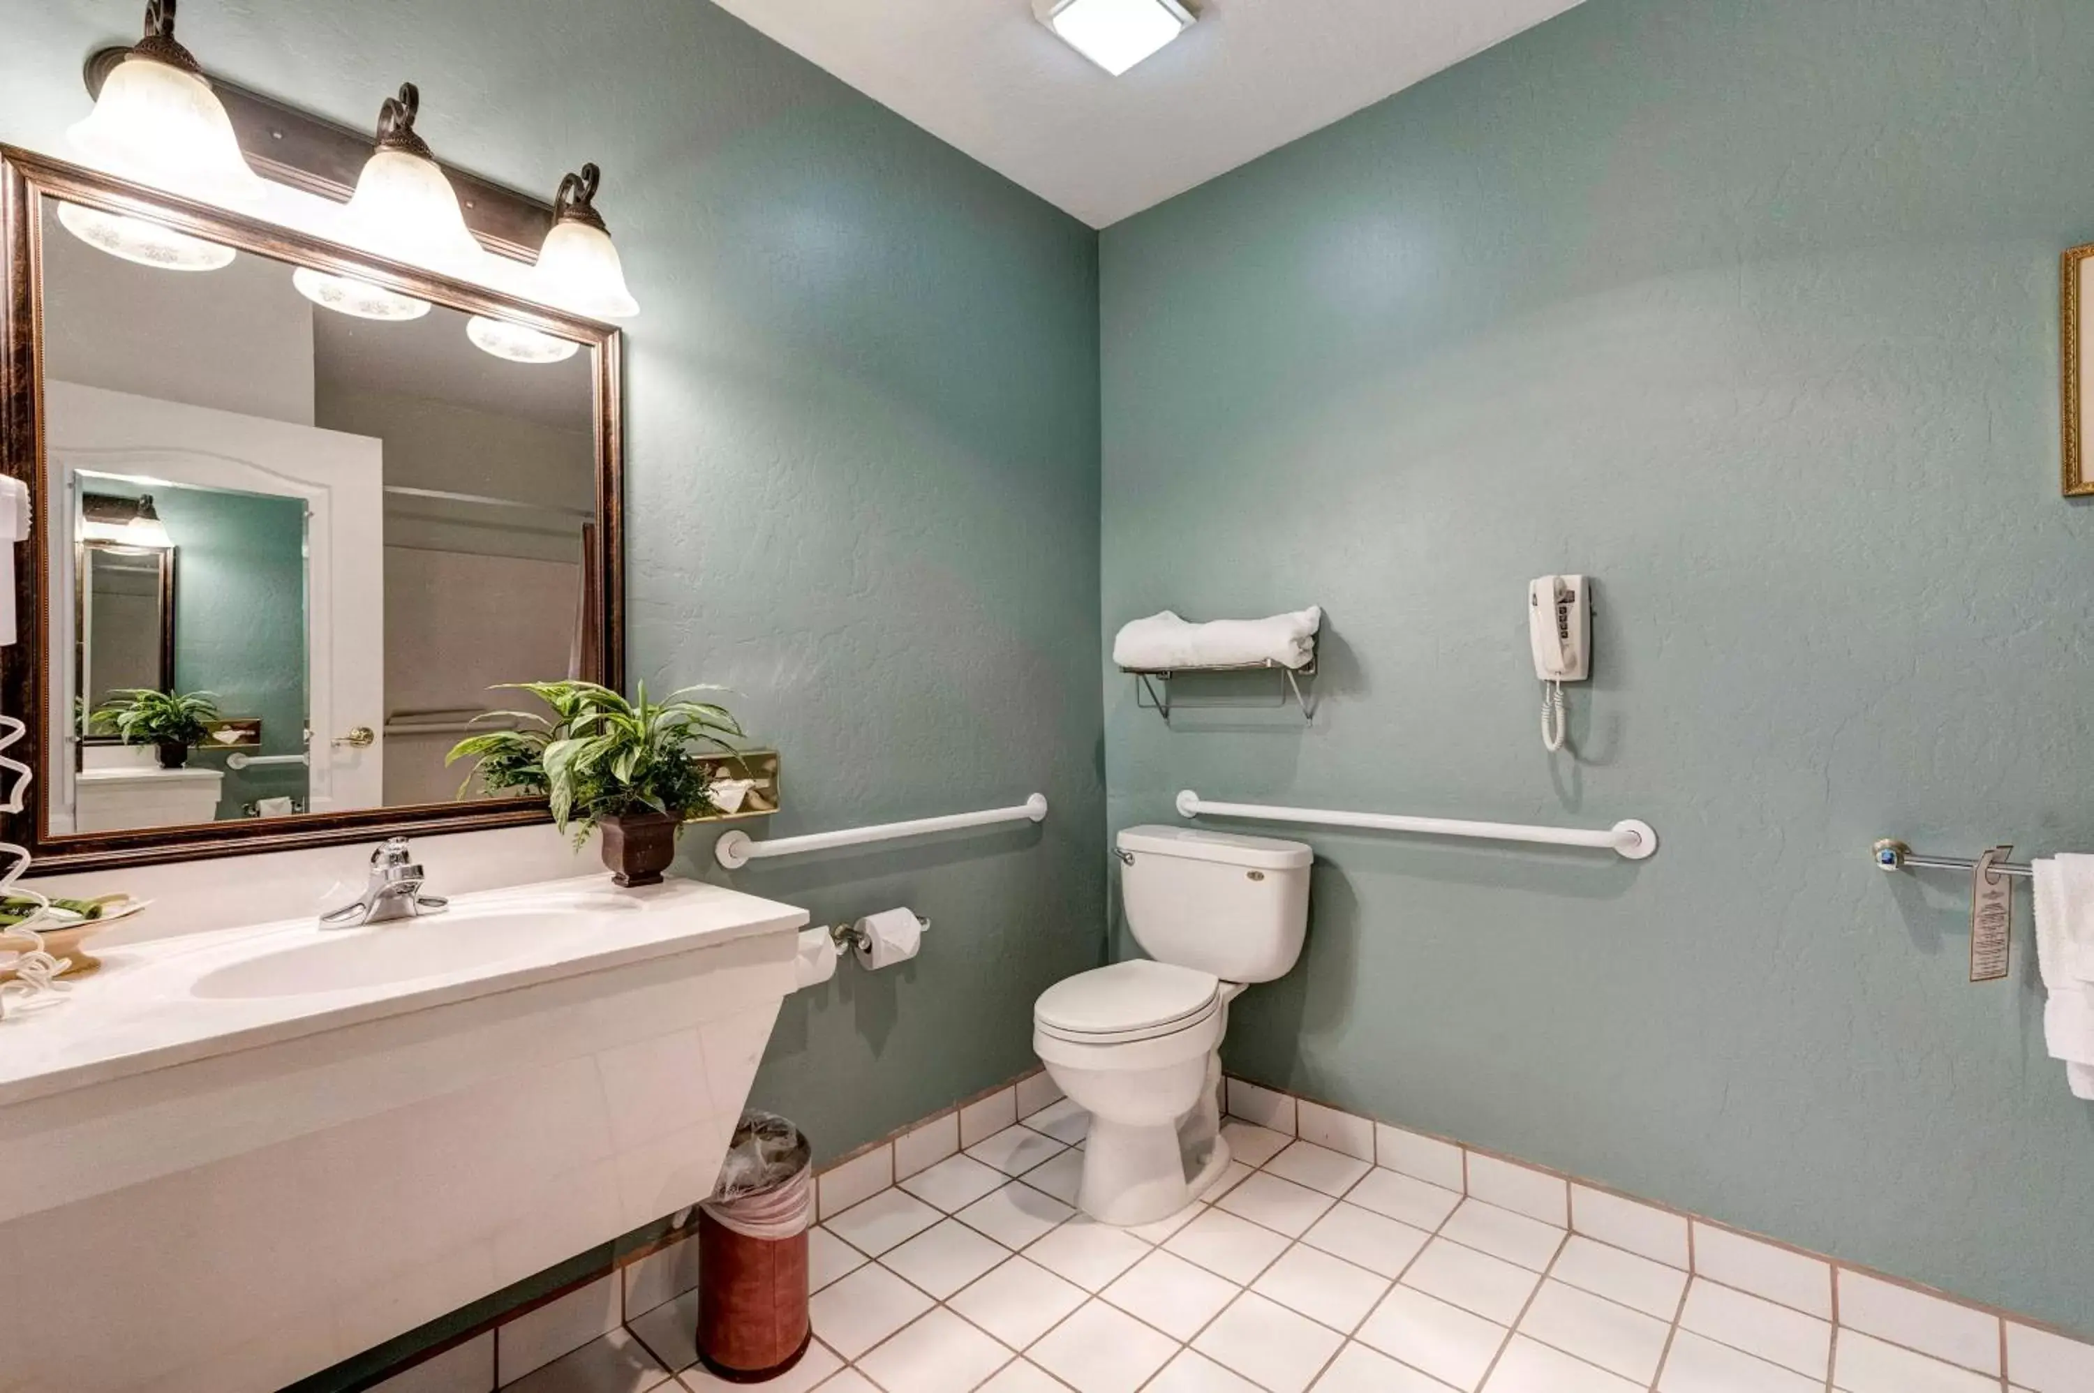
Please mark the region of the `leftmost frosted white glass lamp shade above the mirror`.
<svg viewBox="0 0 2094 1393"><path fill-rule="evenodd" d="M188 199L251 207L264 197L211 84L155 59L117 63L67 138L88 163Z"/></svg>

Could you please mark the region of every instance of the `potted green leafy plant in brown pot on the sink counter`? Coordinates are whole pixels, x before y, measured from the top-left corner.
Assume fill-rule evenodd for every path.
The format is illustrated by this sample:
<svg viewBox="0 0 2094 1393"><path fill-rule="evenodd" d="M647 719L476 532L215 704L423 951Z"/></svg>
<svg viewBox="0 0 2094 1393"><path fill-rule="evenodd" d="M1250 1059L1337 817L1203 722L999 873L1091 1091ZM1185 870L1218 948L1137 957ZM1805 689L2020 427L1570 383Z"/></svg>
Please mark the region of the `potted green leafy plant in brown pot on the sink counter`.
<svg viewBox="0 0 2094 1393"><path fill-rule="evenodd" d="M712 813L706 775L693 754L727 750L741 725L725 706L699 702L683 687L662 702L645 683L628 702L609 687L580 681L505 683L530 691L553 716L498 710L475 721L517 721L517 729L467 735L444 758L473 760L490 792L544 794L553 821L580 846L603 834L603 863L622 886L651 886L676 857L685 819ZM465 794L465 788L459 790Z"/></svg>

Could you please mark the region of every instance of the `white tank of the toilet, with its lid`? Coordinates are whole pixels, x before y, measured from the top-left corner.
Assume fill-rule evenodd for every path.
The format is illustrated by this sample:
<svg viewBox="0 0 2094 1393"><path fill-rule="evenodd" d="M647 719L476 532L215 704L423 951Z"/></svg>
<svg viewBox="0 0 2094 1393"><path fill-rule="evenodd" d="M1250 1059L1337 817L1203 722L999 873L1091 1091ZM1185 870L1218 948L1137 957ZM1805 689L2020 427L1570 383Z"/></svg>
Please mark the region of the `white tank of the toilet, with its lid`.
<svg viewBox="0 0 2094 1393"><path fill-rule="evenodd" d="M1271 982L1294 968L1309 932L1309 846L1127 827L1118 848L1127 928L1150 957L1225 982Z"/></svg>

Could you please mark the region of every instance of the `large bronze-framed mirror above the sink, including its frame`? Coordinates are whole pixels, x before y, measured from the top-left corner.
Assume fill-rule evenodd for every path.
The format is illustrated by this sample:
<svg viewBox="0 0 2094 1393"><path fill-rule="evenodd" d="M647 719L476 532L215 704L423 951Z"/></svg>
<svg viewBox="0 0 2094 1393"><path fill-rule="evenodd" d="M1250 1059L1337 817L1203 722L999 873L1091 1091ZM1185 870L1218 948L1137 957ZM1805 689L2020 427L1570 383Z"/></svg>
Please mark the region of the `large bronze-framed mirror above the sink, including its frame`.
<svg viewBox="0 0 2094 1393"><path fill-rule="evenodd" d="M616 331L19 151L0 218L36 517L8 840L42 869L544 819L444 756L530 706L500 683L622 685Z"/></svg>

